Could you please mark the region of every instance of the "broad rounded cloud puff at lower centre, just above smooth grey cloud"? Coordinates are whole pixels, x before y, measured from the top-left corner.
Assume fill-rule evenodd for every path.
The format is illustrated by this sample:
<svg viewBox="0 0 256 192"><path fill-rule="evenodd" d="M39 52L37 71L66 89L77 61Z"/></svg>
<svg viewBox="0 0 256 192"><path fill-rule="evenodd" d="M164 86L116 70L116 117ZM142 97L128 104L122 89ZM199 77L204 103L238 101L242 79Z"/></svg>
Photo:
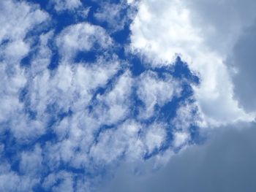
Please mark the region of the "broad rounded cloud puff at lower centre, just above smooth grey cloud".
<svg viewBox="0 0 256 192"><path fill-rule="evenodd" d="M99 142L91 147L94 163L110 164L124 155L127 161L140 160L145 153L143 142L138 136L142 126L134 120L127 120L117 128L102 131ZM107 147L108 146L108 147Z"/></svg>

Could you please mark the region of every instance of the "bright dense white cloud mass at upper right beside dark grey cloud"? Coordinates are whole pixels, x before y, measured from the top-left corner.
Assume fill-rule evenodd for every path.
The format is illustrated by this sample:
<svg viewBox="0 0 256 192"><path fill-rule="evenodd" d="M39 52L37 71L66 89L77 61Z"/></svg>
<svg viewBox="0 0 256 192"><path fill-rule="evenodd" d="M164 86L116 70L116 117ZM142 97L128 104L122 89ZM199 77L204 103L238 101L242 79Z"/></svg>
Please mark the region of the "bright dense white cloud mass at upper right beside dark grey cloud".
<svg viewBox="0 0 256 192"><path fill-rule="evenodd" d="M225 64L241 34L254 23L255 7L249 0L140 1L131 27L132 50L145 55L154 66L172 64L176 54L181 55L200 74L195 96L210 125L249 120L233 99L233 84ZM244 61L239 62L244 66Z"/></svg>

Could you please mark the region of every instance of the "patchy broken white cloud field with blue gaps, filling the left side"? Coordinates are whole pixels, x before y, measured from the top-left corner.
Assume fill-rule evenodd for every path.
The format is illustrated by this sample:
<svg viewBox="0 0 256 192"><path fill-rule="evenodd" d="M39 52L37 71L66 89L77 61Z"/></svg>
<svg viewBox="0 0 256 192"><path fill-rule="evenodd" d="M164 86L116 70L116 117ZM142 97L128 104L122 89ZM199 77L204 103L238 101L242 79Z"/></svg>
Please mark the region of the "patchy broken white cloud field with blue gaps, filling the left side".
<svg viewBox="0 0 256 192"><path fill-rule="evenodd" d="M57 11L81 6L54 3ZM127 25L128 5L115 6L108 21L116 26L118 14ZM0 191L92 191L121 161L157 164L192 141L194 111L182 113L186 128L174 117L195 104L193 78L176 77L175 66L135 73L130 59L138 55L118 55L111 27L75 20L59 32L37 5L0 7ZM99 12L95 18L102 20Z"/></svg>

